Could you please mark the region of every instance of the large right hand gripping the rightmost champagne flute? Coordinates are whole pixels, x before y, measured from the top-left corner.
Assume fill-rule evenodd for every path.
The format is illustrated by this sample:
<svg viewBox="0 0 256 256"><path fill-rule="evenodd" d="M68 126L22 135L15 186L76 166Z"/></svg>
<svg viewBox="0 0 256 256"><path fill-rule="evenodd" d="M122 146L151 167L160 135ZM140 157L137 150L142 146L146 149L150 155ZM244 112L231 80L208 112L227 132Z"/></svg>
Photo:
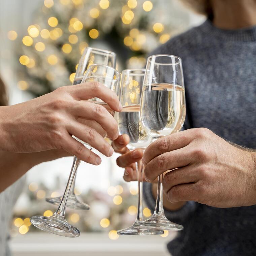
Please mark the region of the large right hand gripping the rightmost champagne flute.
<svg viewBox="0 0 256 256"><path fill-rule="evenodd" d="M143 161L149 182L172 170L163 180L171 202L196 201L215 207L256 203L255 153L232 146L208 129L160 138L146 149Z"/></svg>

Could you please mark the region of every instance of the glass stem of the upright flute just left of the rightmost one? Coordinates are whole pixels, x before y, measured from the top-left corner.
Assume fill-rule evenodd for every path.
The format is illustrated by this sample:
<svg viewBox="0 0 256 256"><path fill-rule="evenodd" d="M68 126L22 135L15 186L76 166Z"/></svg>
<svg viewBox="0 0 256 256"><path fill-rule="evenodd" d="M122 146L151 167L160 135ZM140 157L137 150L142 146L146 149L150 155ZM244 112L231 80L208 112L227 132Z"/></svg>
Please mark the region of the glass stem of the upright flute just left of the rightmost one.
<svg viewBox="0 0 256 256"><path fill-rule="evenodd" d="M138 209L137 209L137 216L135 222L140 222L143 220L143 169L144 165L142 163L142 160L135 163L136 164L136 171L137 171L137 180L138 180Z"/></svg>

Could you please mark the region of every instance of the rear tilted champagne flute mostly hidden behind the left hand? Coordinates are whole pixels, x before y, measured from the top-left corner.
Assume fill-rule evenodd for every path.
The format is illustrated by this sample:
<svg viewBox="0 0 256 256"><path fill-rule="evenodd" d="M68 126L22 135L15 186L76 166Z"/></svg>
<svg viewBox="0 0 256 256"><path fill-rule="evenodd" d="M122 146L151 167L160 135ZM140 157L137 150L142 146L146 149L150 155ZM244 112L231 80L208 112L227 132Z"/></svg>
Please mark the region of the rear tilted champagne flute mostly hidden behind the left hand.
<svg viewBox="0 0 256 256"><path fill-rule="evenodd" d="M92 47L86 47L83 52L83 55L79 61L78 67L76 69L75 78L74 78L72 85L81 84L86 71L94 63L105 64L105 65L115 68L116 67L116 54L114 52L110 52L110 51L106 51L106 50L101 50L101 49L92 48ZM76 139L78 141L84 143L80 139L78 139L78 138L76 138ZM91 149L91 147L90 147L90 149ZM74 168L78 168L80 163L81 163L81 160L78 159L76 156L74 156L74 158L73 158ZM90 206L86 203L81 202L75 195L75 179L76 179L76 176L71 184L70 193L69 193L68 201L67 201L67 207L74 209L74 210L89 210ZM48 197L45 200L49 203L59 205L62 200L62 196Z"/></svg>

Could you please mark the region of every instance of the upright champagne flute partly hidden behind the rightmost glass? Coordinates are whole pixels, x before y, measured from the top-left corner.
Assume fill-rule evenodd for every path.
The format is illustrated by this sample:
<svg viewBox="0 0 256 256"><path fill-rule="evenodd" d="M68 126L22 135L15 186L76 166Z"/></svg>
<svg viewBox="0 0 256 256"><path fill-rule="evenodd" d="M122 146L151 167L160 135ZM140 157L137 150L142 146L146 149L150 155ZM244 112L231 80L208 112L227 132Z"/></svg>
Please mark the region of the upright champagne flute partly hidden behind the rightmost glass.
<svg viewBox="0 0 256 256"><path fill-rule="evenodd" d="M143 85L145 69L126 69L122 72L122 79L119 92L119 101L123 109L120 113L116 113L115 118L118 122L118 130L120 134L128 134L130 142L127 145L128 149L146 148L151 139L145 129L143 129L140 119L140 98ZM138 208L134 225L118 230L120 235L157 235L163 234L163 230L154 227L141 227L140 223L143 220L142 213L142 161L136 162L137 180L138 180Z"/></svg>

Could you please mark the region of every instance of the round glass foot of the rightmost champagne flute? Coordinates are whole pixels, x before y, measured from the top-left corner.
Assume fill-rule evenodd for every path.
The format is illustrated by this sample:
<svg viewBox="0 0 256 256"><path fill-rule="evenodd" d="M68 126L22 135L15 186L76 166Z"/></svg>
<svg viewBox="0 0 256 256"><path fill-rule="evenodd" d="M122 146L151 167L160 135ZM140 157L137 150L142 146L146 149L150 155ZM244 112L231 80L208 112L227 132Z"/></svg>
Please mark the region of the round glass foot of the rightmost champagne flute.
<svg viewBox="0 0 256 256"><path fill-rule="evenodd" d="M169 221L165 216L163 215L157 215L153 214L153 216L145 221L139 222L139 223L134 223L134 226L140 226L140 227L156 227L158 229L163 229L163 230L183 230L183 226L173 223Z"/></svg>

